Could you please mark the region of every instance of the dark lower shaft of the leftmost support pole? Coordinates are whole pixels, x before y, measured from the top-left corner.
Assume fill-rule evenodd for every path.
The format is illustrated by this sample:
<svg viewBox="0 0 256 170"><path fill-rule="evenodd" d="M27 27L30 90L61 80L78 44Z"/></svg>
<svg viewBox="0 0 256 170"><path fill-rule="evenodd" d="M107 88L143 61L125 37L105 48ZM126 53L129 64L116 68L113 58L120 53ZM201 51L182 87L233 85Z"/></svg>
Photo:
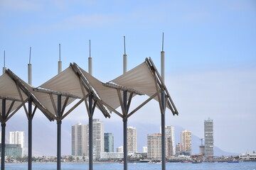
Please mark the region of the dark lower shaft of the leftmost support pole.
<svg viewBox="0 0 256 170"><path fill-rule="evenodd" d="M6 117L6 99L2 100L2 118L5 120ZM5 128L6 124L1 123L1 170L4 170L5 160Z"/></svg>

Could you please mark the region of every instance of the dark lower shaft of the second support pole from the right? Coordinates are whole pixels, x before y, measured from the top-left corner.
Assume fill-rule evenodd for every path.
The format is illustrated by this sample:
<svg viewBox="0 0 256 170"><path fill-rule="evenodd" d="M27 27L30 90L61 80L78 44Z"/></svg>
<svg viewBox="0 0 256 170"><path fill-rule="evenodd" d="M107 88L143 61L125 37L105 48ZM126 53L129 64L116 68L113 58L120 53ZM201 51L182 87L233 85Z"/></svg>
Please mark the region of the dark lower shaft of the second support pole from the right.
<svg viewBox="0 0 256 170"><path fill-rule="evenodd" d="M123 95L123 103L124 103L124 117L127 115L127 91L124 91ZM124 127L124 170L127 170L127 162L128 162L128 148L127 148L127 119L123 120Z"/></svg>

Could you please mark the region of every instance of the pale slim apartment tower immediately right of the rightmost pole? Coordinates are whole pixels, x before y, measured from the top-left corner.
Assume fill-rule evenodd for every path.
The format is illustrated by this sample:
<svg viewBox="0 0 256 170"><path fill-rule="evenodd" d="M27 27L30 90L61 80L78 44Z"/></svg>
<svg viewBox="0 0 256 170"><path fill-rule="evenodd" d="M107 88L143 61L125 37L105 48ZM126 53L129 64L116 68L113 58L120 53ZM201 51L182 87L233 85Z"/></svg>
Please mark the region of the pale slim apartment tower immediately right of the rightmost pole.
<svg viewBox="0 0 256 170"><path fill-rule="evenodd" d="M173 125L166 126L165 131L166 131L166 157L171 157L175 154L174 126Z"/></svg>

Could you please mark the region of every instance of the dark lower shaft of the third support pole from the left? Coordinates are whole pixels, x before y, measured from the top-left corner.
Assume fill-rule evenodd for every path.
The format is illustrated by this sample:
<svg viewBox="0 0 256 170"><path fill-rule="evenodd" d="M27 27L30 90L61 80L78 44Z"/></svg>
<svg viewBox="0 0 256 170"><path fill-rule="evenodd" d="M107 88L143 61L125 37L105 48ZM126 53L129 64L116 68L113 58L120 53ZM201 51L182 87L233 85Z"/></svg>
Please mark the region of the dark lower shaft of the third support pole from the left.
<svg viewBox="0 0 256 170"><path fill-rule="evenodd" d="M58 116L61 118L61 95L58 95ZM61 120L57 122L57 170L60 170L61 159Z"/></svg>

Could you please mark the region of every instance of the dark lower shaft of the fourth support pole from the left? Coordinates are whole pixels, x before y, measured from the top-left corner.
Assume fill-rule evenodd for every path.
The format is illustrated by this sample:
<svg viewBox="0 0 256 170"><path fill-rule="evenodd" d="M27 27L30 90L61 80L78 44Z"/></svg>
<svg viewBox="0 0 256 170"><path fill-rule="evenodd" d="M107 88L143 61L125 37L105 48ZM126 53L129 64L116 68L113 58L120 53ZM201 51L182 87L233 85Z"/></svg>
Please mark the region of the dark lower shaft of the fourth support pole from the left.
<svg viewBox="0 0 256 170"><path fill-rule="evenodd" d="M93 145L93 140L92 140L92 94L89 96L89 111L90 111L90 116L89 116L89 170L93 169L93 152L92 152L92 145Z"/></svg>

